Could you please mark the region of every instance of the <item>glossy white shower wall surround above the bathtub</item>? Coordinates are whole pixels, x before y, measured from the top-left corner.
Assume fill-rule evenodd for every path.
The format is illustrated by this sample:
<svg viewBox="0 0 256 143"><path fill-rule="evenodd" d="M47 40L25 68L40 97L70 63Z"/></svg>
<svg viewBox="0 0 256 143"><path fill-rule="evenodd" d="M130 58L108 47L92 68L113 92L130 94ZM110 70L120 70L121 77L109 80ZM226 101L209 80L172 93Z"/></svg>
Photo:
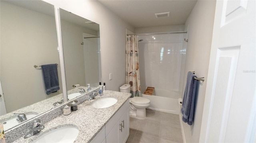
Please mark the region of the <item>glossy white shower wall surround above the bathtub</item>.
<svg viewBox="0 0 256 143"><path fill-rule="evenodd" d="M140 79L142 93L146 86L181 93L186 56L185 33L139 35Z"/></svg>

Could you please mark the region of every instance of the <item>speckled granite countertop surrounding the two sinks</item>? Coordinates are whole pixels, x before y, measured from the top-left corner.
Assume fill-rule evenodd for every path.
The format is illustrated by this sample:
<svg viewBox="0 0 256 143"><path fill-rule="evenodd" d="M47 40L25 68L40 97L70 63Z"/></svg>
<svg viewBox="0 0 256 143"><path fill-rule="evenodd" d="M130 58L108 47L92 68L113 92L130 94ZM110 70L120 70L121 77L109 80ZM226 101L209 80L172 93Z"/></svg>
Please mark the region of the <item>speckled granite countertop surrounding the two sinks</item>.
<svg viewBox="0 0 256 143"><path fill-rule="evenodd" d="M116 92L105 90L102 96L96 96L94 100L86 100L78 105L78 110L71 114L58 116L44 124L44 129L28 139L20 137L14 143L32 143L35 139L58 127L74 126L79 129L79 134L74 143L89 143L97 133L106 125L106 123L114 116L120 107L129 99L130 93ZM94 108L91 105L99 98L113 97L118 101L108 108ZM25 135L26 133L24 133Z"/></svg>

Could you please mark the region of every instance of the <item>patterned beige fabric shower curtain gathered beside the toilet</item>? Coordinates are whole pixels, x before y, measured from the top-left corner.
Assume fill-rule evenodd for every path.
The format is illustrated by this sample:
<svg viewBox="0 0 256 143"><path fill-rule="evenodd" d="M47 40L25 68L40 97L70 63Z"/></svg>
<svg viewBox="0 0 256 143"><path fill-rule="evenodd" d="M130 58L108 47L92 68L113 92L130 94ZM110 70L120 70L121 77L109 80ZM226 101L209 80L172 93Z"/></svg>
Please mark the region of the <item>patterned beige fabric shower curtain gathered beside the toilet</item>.
<svg viewBox="0 0 256 143"><path fill-rule="evenodd" d="M142 96L140 92L139 52L136 35L126 36L126 84L131 85L131 97Z"/></svg>

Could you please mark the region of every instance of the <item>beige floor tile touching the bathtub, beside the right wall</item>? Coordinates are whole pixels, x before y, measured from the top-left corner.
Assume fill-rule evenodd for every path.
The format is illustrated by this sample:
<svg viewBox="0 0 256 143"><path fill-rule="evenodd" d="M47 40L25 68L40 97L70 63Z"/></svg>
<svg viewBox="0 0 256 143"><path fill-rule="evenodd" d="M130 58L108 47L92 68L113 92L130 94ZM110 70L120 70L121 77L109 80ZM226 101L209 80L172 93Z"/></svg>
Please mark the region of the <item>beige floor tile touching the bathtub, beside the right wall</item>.
<svg viewBox="0 0 256 143"><path fill-rule="evenodd" d="M176 114L161 114L161 124L180 127L180 117Z"/></svg>

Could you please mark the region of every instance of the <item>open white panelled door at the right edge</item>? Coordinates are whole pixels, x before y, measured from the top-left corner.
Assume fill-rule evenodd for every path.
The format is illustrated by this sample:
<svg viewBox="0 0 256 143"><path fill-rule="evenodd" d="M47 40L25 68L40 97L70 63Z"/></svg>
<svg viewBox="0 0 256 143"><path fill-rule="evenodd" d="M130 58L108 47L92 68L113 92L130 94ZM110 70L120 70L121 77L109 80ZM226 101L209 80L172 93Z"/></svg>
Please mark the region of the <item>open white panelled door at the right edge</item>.
<svg viewBox="0 0 256 143"><path fill-rule="evenodd" d="M217 0L200 142L255 142L254 0Z"/></svg>

